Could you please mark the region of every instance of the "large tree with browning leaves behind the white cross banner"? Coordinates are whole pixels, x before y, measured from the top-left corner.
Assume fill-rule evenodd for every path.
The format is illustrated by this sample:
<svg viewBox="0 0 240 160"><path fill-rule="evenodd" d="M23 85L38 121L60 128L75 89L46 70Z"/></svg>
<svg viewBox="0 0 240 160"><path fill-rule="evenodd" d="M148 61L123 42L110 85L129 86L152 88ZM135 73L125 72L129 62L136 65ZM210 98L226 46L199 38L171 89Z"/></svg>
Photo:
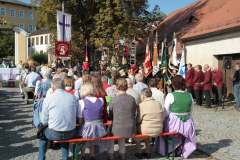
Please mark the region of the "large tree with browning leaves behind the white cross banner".
<svg viewBox="0 0 240 160"><path fill-rule="evenodd" d="M82 59L85 40L90 44L91 54L103 46L110 48L124 38L133 40L134 35L143 39L154 24L152 12L148 12L148 0L32 0L37 5L39 27L50 29L57 39L56 10L72 15L71 54ZM150 18L151 17L151 18ZM130 43L129 43L130 44Z"/></svg>

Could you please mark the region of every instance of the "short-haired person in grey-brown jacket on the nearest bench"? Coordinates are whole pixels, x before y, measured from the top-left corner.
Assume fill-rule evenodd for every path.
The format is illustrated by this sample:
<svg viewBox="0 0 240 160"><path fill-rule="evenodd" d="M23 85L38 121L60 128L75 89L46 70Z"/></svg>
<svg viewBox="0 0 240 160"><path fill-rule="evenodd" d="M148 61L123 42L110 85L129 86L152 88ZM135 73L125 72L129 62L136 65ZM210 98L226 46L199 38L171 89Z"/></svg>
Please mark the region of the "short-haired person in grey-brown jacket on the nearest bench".
<svg viewBox="0 0 240 160"><path fill-rule="evenodd" d="M135 112L137 104L135 99L126 94L128 89L127 81L124 78L117 80L118 96L113 97L109 104L109 117L113 118L112 134L117 137L134 137L136 135ZM125 160L125 139L118 140L119 153L122 160ZM114 159L114 140L110 142L108 149L109 159Z"/></svg>

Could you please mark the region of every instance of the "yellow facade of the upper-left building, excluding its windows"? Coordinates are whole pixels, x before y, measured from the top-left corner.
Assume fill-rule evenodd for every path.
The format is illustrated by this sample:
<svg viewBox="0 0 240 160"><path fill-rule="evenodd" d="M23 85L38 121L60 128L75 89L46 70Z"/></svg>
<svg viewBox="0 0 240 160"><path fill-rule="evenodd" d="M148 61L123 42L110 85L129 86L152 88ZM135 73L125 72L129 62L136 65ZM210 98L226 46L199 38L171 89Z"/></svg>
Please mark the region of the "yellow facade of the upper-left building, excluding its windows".
<svg viewBox="0 0 240 160"><path fill-rule="evenodd" d="M7 23L23 23L24 24L24 30L27 32L30 32L28 30L28 25L33 25L33 30L37 26L37 14L33 12L33 9L29 6L23 6L18 4L12 4L12 3L0 3L0 10L1 8L6 9L6 16L3 16L4 20L7 21ZM11 17L11 9L15 10L15 17ZM24 18L20 18L20 11L24 11ZM33 20L29 19L29 12L33 12ZM1 14L1 12L0 12ZM2 16L2 15L1 15ZM19 27L19 26L18 26Z"/></svg>

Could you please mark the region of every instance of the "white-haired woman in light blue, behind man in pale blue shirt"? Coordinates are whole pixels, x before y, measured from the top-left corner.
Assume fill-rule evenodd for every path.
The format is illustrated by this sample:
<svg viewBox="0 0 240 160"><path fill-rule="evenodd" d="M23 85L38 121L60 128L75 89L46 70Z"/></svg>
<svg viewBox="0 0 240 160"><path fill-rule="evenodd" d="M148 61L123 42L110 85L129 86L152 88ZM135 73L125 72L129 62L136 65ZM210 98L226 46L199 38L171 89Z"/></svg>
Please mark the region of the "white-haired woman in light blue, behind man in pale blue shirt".
<svg viewBox="0 0 240 160"><path fill-rule="evenodd" d="M49 88L51 88L52 80L50 79L51 70L47 66L41 68L41 75L43 79L36 83L35 95L37 99L45 97Z"/></svg>

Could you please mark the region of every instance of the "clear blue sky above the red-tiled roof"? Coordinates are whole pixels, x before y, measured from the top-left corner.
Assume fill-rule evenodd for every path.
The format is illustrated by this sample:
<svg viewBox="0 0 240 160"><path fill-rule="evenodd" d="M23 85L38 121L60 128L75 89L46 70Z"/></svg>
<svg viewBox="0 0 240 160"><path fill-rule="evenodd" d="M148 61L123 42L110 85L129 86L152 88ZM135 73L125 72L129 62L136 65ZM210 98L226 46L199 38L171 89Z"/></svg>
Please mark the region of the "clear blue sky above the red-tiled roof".
<svg viewBox="0 0 240 160"><path fill-rule="evenodd" d="M30 3L30 0L20 0L26 3ZM194 3L198 0L148 0L150 6L149 11L153 10L155 5L160 7L160 10L165 14L170 14L173 11L176 11L180 8L183 8L191 3Z"/></svg>

